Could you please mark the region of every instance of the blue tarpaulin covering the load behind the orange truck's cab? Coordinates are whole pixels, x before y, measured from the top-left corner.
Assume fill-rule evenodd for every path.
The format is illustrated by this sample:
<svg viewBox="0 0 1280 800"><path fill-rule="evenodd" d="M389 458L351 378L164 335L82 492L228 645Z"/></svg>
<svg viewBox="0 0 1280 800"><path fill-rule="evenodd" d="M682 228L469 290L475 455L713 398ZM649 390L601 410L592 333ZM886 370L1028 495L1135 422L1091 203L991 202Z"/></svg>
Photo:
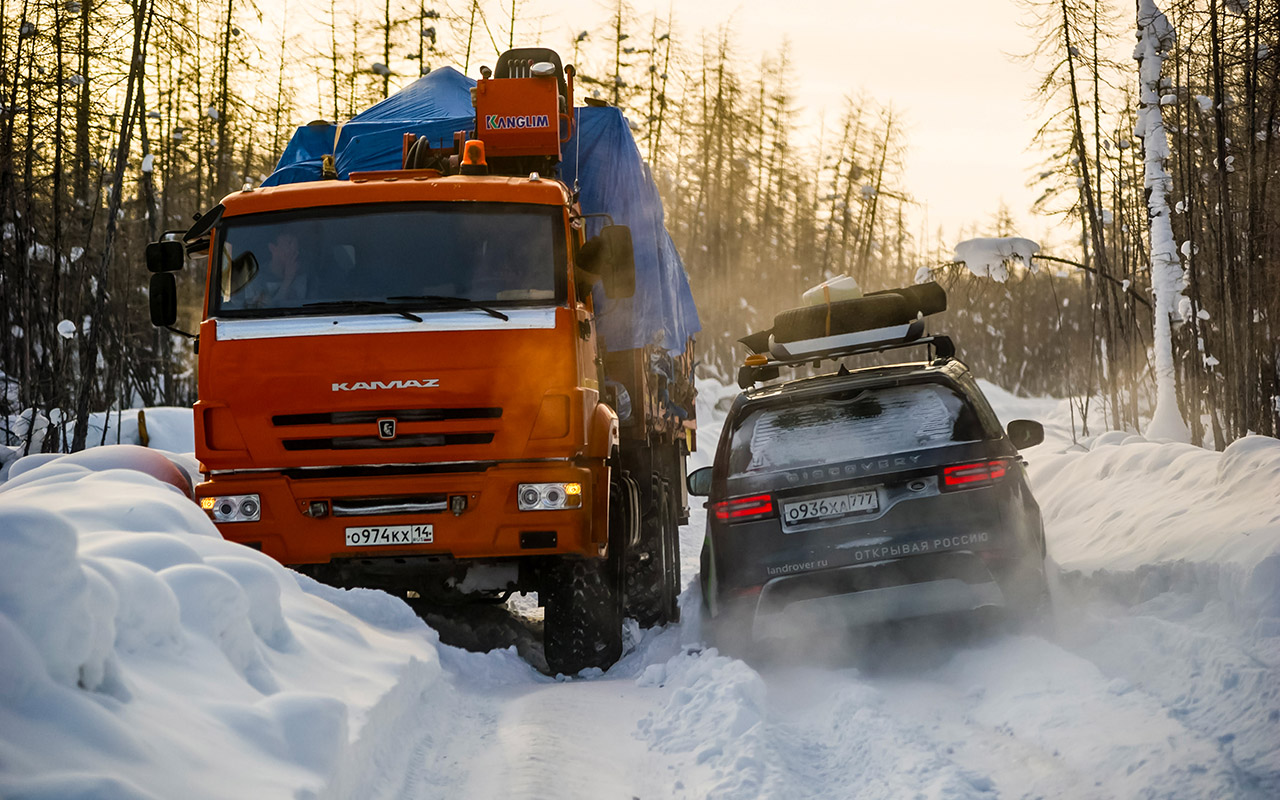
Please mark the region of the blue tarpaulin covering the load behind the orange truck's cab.
<svg viewBox="0 0 1280 800"><path fill-rule="evenodd" d="M431 146L449 146L456 131L475 128L471 87L475 81L452 68L431 72L342 125L298 128L275 172L264 186L320 179L320 159L333 155L338 177L352 172L399 169L404 133L425 136ZM627 300L598 303L598 325L609 349L660 344L685 349L698 333L698 310L684 262L663 225L662 200L640 157L622 111L573 109L575 134L562 146L558 175L570 187L580 182L584 214L608 214L631 228L636 256L636 292ZM589 233L604 221L589 220Z"/></svg>

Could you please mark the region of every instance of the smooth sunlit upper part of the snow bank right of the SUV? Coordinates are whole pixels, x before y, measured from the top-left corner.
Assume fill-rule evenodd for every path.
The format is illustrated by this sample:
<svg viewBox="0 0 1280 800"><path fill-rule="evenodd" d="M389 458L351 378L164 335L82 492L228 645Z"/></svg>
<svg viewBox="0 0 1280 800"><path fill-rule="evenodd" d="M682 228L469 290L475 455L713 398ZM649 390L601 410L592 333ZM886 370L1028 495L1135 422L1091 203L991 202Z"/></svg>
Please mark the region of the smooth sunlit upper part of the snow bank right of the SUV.
<svg viewBox="0 0 1280 800"><path fill-rule="evenodd" d="M1280 440L1217 453L1108 433L1030 468L1062 570L1129 575L1134 600L1180 588L1280 618Z"/></svg>

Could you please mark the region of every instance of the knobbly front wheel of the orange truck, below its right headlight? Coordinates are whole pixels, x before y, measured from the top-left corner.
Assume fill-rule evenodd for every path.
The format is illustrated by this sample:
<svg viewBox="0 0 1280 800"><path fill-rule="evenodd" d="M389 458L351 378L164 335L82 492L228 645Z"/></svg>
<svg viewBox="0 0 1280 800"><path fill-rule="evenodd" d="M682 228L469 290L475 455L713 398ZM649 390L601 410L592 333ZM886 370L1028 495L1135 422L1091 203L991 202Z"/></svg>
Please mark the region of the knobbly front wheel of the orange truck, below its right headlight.
<svg viewBox="0 0 1280 800"><path fill-rule="evenodd" d="M544 588L543 652L552 675L608 669L622 657L622 604L611 559L564 559Z"/></svg>

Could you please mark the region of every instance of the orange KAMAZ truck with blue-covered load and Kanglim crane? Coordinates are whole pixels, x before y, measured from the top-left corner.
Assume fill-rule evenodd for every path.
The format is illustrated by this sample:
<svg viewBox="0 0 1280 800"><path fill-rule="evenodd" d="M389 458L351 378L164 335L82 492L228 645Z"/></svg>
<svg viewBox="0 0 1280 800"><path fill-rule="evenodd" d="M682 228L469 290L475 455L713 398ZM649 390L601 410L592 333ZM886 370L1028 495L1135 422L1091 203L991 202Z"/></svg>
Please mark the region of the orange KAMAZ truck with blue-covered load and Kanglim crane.
<svg viewBox="0 0 1280 800"><path fill-rule="evenodd" d="M696 312L617 109L515 50L298 131L148 247L152 321L206 262L201 506L338 586L536 591L552 672L678 616Z"/></svg>

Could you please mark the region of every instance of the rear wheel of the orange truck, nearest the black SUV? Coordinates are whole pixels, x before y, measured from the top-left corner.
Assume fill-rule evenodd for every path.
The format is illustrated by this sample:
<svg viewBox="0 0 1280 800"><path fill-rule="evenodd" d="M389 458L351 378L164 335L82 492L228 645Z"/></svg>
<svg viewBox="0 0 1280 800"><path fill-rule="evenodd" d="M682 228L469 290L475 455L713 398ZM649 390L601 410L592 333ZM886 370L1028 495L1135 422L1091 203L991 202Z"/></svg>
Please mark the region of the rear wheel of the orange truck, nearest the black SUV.
<svg viewBox="0 0 1280 800"><path fill-rule="evenodd" d="M671 494L657 476L644 507L640 547L628 553L626 561L626 613L640 627L653 627L678 616L680 595L675 513Z"/></svg>

